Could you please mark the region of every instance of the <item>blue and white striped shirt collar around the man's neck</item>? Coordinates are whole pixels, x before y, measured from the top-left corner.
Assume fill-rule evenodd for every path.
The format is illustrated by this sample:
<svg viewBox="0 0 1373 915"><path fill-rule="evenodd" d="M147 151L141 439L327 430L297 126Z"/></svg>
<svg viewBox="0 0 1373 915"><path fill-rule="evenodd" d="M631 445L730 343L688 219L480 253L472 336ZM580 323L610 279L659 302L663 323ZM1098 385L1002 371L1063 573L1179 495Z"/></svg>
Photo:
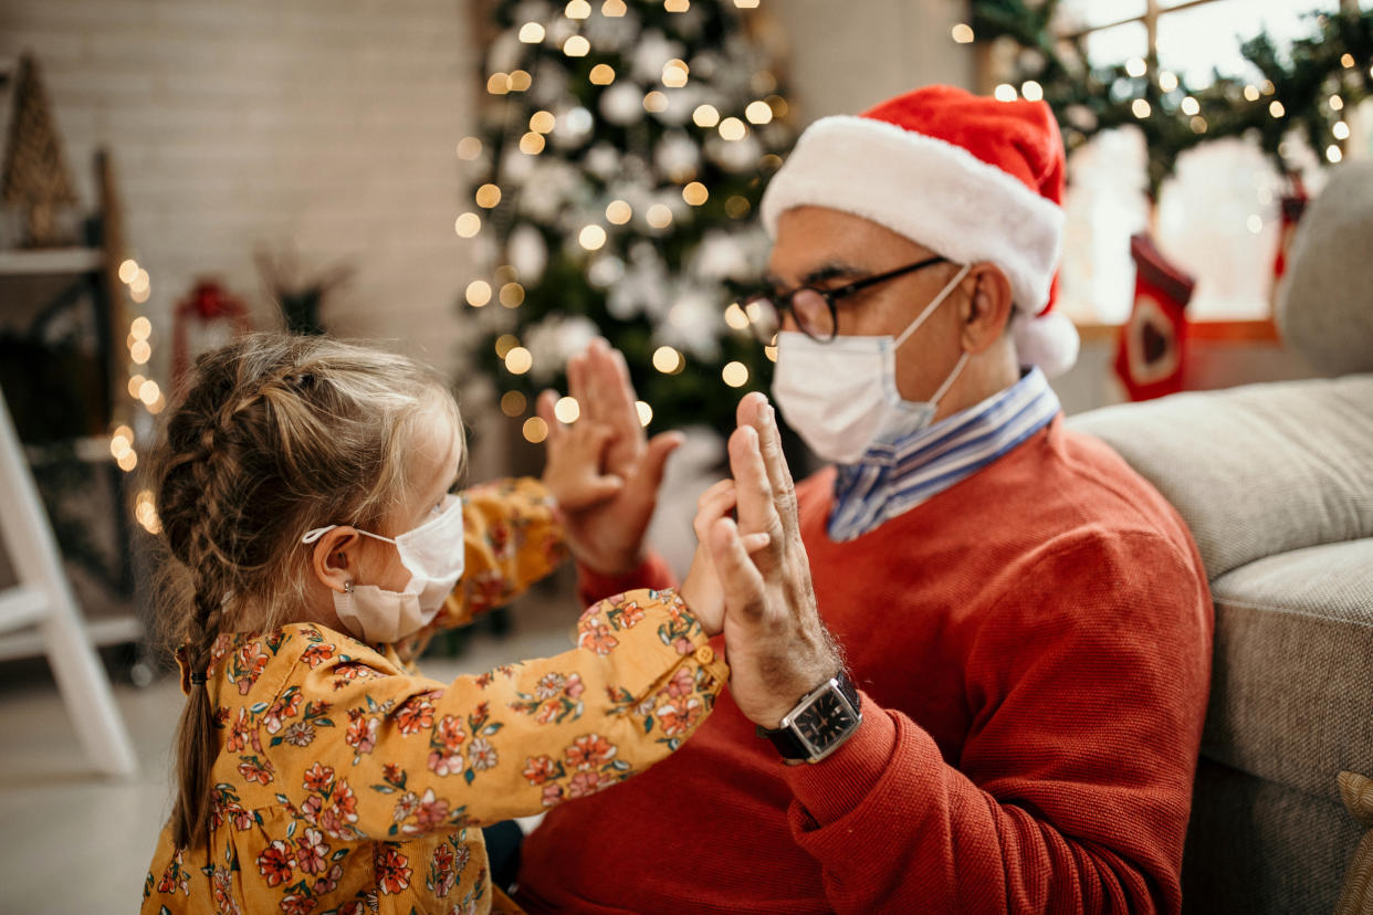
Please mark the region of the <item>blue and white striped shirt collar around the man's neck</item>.
<svg viewBox="0 0 1373 915"><path fill-rule="evenodd" d="M873 443L839 466L829 539L851 540L987 466L1059 414L1039 369L934 425Z"/></svg>

